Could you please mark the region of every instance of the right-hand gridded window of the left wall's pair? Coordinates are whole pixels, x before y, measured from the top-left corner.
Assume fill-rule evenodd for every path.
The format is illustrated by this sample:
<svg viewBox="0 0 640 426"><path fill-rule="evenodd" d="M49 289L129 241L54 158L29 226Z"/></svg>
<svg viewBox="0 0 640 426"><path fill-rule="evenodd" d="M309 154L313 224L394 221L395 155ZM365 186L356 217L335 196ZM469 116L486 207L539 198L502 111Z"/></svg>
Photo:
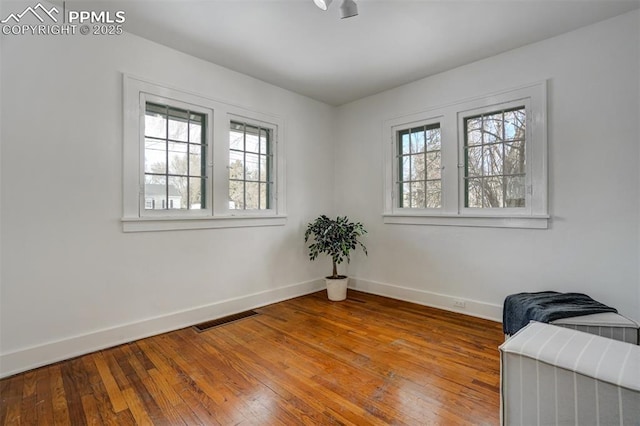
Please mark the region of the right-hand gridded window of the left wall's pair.
<svg viewBox="0 0 640 426"><path fill-rule="evenodd" d="M229 129L229 208L269 209L272 130L231 121Z"/></svg>

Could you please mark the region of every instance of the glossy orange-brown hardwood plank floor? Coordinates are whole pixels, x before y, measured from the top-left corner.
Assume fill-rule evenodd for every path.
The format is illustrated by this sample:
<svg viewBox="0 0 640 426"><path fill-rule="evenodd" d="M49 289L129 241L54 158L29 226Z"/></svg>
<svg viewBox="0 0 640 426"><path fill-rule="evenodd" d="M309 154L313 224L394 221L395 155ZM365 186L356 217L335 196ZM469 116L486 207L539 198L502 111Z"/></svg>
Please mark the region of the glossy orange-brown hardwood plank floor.
<svg viewBox="0 0 640 426"><path fill-rule="evenodd" d="M499 423L499 323L314 293L0 381L0 424Z"/></svg>

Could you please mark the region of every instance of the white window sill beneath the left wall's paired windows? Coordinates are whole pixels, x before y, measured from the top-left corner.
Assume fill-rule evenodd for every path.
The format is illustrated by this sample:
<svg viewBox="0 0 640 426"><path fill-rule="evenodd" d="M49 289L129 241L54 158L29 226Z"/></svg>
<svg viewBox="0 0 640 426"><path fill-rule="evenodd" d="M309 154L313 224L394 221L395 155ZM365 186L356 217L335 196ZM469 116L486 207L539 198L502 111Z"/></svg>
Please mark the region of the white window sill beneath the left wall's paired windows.
<svg viewBox="0 0 640 426"><path fill-rule="evenodd" d="M283 226L286 216L135 217L122 218L123 232Z"/></svg>

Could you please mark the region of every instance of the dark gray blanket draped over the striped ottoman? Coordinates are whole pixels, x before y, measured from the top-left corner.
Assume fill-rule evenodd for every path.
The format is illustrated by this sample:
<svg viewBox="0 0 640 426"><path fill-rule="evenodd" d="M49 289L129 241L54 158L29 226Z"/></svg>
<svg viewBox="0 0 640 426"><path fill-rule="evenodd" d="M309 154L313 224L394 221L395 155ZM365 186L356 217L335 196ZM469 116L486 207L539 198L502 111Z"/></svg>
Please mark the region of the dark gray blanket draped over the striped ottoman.
<svg viewBox="0 0 640 426"><path fill-rule="evenodd" d="M505 334L516 331L530 321L551 322L561 318L618 311L593 300L582 293L518 293L507 296L502 311L502 330Z"/></svg>

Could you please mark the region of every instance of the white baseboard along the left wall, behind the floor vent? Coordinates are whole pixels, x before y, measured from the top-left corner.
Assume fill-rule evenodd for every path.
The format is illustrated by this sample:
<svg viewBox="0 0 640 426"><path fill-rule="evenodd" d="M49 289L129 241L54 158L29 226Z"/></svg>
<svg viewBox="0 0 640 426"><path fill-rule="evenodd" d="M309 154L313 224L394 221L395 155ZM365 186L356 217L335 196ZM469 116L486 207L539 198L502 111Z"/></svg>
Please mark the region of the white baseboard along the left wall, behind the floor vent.
<svg viewBox="0 0 640 426"><path fill-rule="evenodd" d="M313 280L0 354L0 378L322 290Z"/></svg>

